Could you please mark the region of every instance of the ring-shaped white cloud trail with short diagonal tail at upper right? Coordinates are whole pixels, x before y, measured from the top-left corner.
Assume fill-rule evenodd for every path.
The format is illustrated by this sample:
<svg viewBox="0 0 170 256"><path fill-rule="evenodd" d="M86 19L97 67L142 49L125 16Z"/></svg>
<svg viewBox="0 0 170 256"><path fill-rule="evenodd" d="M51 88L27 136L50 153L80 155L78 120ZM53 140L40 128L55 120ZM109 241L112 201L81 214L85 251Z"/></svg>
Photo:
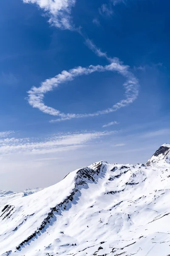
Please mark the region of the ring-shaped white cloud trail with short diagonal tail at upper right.
<svg viewBox="0 0 170 256"><path fill-rule="evenodd" d="M138 80L135 76L129 71L129 67L123 65L122 62L119 61L118 58L109 58L107 53L102 52L98 49L91 40L87 39L86 44L90 49L92 49L96 55L99 57L105 57L111 64L101 66L101 65L90 65L89 67L76 67L71 70L63 70L62 73L57 76L47 79L41 83L40 87L32 87L31 90L28 91L28 102L33 108L38 108L40 111L46 114L50 114L52 116L58 116L59 119L51 120L51 122L57 122L62 120L68 120L72 118L82 118L89 116L99 116L102 114L107 114L111 112L117 111L119 108L125 107L132 103L138 96ZM96 111L94 113L62 113L57 109L48 107L44 104L44 96L45 93L52 91L55 87L58 87L60 84L66 81L72 81L78 76L89 75L94 72L105 72L112 71L118 72L122 76L125 77L126 81L123 84L125 88L125 99L117 102L112 105L110 108L107 108L102 111Z"/></svg>

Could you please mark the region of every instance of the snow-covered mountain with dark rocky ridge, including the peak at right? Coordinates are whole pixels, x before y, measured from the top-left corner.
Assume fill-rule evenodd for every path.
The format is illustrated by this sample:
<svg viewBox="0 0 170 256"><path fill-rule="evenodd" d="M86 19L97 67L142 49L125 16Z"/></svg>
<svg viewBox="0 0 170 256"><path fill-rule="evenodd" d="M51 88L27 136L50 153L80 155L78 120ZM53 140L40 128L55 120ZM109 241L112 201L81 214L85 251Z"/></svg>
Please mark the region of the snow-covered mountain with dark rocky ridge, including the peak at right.
<svg viewBox="0 0 170 256"><path fill-rule="evenodd" d="M145 165L100 161L4 198L1 256L170 255L170 145Z"/></svg>

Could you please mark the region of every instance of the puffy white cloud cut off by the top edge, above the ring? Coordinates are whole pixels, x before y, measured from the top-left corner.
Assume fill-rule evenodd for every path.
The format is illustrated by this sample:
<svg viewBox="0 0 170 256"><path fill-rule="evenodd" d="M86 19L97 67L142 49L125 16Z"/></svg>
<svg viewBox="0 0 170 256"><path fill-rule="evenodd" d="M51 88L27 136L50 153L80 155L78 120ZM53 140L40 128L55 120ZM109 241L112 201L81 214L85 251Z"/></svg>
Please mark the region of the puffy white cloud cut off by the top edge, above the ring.
<svg viewBox="0 0 170 256"><path fill-rule="evenodd" d="M37 4L50 17L49 22L60 29L73 29L71 8L76 0L23 0L24 3Z"/></svg>

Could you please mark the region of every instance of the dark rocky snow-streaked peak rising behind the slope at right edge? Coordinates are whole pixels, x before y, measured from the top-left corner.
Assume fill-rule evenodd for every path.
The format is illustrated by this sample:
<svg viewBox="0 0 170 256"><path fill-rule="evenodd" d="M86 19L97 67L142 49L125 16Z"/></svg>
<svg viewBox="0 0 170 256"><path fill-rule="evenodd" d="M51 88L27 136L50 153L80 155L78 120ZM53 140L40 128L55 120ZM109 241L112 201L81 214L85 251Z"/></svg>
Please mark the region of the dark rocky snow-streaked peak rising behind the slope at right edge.
<svg viewBox="0 0 170 256"><path fill-rule="evenodd" d="M156 150L153 156L147 161L146 165L150 166L153 163L158 163L163 160L165 163L170 162L170 144L163 144Z"/></svg>

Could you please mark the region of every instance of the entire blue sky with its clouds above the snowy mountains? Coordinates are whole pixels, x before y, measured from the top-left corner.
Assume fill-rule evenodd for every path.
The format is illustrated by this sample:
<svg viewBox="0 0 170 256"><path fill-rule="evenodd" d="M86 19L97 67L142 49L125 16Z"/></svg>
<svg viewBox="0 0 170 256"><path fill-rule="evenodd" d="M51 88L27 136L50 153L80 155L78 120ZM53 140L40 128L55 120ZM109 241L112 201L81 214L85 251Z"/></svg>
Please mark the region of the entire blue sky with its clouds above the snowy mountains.
<svg viewBox="0 0 170 256"><path fill-rule="evenodd" d="M48 186L99 160L145 162L169 143L169 9L1 1L0 188Z"/></svg>

